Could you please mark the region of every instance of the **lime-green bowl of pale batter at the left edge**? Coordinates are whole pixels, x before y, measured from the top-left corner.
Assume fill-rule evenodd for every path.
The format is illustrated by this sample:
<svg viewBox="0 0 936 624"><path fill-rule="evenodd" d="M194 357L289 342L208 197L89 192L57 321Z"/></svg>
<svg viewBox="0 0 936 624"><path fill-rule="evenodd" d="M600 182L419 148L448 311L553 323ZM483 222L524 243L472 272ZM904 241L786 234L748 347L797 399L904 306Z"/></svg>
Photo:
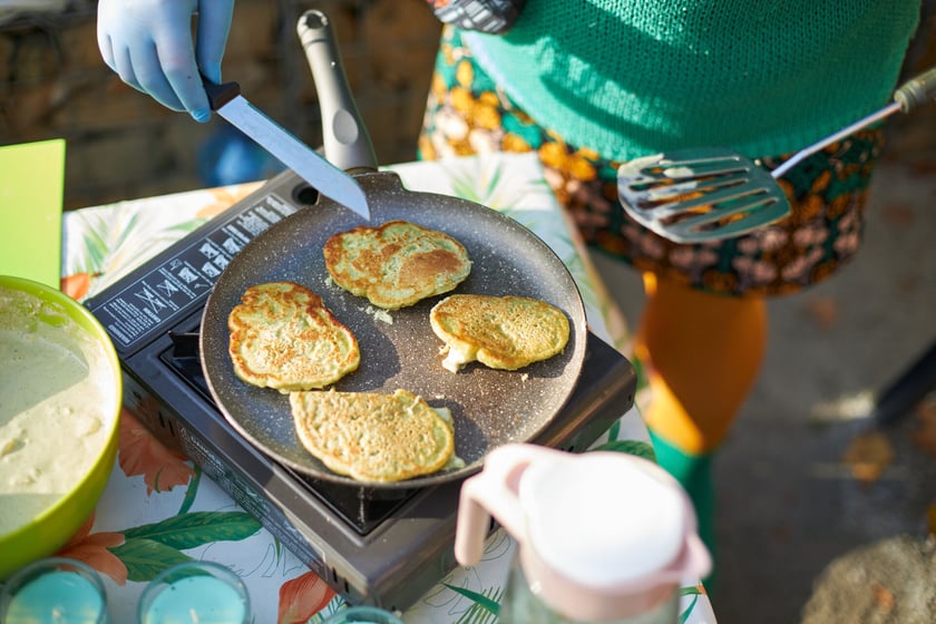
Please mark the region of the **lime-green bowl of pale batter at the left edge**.
<svg viewBox="0 0 936 624"><path fill-rule="evenodd" d="M50 353L60 353L64 360L52 365ZM68 363L69 358L76 363ZM26 384L19 383L33 378L23 372L33 370L32 367L48 371L35 376L46 384L38 392L27 391ZM84 378L82 367L87 369ZM62 370L72 376L67 381L57 381L53 371ZM0 275L0 374L6 374L8 380L2 391L6 398L0 398L0 501L4 506L23 506L18 509L31 506L35 511L19 518L0 514L0 579L3 579L61 548L94 511L117 456L123 382L114 343L85 306L38 282L6 275ZM60 404L78 394L76 389L81 383L86 383L80 388L87 392L82 396L100 394L95 399L100 401L100 409L89 420L79 420L87 418L84 411L71 412ZM37 416L40 411L37 406L50 407L41 408L46 411ZM33 470L23 476L21 469L33 461L27 456L29 449L36 448L23 427L30 423L36 427L46 418L61 422L62 430L79 422L85 429L80 440L66 438L57 447L56 465L74 466L72 474L64 480L65 487L40 491L38 478L23 485L38 474ZM78 450L78 447L84 448ZM16 484L8 478L14 471L19 475Z"/></svg>

